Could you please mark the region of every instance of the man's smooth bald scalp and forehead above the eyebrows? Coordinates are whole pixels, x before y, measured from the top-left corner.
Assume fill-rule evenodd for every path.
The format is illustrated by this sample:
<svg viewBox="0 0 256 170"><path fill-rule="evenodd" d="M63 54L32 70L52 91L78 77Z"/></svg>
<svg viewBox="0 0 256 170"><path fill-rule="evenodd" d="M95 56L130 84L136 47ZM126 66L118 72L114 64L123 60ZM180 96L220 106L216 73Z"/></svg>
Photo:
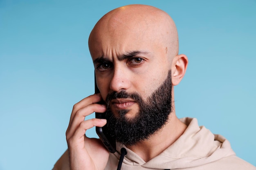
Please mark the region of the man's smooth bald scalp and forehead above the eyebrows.
<svg viewBox="0 0 256 170"><path fill-rule="evenodd" d="M128 5L110 11L97 22L89 37L92 57L121 50L138 51L140 47L147 50L146 46L159 48L169 59L178 54L173 20L166 12L147 5Z"/></svg>

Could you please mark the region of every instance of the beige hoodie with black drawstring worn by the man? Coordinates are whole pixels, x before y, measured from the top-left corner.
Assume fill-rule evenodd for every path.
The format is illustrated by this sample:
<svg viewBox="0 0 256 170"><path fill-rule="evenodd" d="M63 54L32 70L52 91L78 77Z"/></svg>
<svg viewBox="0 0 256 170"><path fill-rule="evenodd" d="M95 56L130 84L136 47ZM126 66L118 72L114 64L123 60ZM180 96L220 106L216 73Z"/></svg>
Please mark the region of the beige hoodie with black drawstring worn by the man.
<svg viewBox="0 0 256 170"><path fill-rule="evenodd" d="M121 170L256 170L256 167L236 157L229 141L213 135L195 118L182 118L188 128L164 152L145 162L134 152L117 144L117 152L110 154L105 170L116 170L121 148L127 155ZM67 152L57 161L54 170L69 170Z"/></svg>

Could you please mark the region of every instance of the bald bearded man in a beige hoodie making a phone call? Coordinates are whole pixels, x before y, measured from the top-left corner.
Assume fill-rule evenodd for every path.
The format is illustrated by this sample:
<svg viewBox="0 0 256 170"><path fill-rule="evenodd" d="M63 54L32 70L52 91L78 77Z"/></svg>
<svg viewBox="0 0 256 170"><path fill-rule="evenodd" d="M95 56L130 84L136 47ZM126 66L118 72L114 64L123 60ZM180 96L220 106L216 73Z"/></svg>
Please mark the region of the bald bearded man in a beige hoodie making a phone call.
<svg viewBox="0 0 256 170"><path fill-rule="evenodd" d="M256 170L235 156L224 137L199 127L196 119L177 118L173 90L188 59L178 54L177 30L167 13L146 5L110 11L94 26L89 49L100 93L74 105L68 151L55 170L113 170L121 148L127 152L122 170ZM101 100L106 105L96 104ZM94 112L106 112L107 120L84 121ZM114 154L85 136L87 129L106 124L116 136Z"/></svg>

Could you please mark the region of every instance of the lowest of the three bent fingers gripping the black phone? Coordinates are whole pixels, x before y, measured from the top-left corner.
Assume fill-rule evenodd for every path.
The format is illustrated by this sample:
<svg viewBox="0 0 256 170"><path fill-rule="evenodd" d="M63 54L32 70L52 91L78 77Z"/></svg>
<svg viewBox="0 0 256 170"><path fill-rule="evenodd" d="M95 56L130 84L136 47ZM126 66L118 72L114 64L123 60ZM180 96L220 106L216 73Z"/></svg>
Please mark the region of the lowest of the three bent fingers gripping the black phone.
<svg viewBox="0 0 256 170"><path fill-rule="evenodd" d="M106 119L96 119L96 118L82 121L77 127L77 129L75 130L74 134L69 138L67 137L67 142L72 145L76 145L81 142L84 142L84 135L86 130L94 126L102 127L106 125L106 123L107 123Z"/></svg>

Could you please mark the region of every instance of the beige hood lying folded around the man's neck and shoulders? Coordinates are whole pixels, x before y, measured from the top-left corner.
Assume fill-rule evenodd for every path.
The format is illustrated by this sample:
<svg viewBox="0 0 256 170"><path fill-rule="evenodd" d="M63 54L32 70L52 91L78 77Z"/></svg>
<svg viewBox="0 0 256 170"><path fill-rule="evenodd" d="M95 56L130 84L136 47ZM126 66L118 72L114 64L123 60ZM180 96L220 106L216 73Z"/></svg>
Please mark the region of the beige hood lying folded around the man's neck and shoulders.
<svg viewBox="0 0 256 170"><path fill-rule="evenodd" d="M164 152L148 162L145 162L132 150L117 144L118 151L121 148L127 150L122 169L130 166L153 169L191 168L235 155L227 139L221 135L214 135L204 126L198 126L197 119L182 118L180 120L188 126L182 136ZM116 152L112 156L119 159L120 152Z"/></svg>

